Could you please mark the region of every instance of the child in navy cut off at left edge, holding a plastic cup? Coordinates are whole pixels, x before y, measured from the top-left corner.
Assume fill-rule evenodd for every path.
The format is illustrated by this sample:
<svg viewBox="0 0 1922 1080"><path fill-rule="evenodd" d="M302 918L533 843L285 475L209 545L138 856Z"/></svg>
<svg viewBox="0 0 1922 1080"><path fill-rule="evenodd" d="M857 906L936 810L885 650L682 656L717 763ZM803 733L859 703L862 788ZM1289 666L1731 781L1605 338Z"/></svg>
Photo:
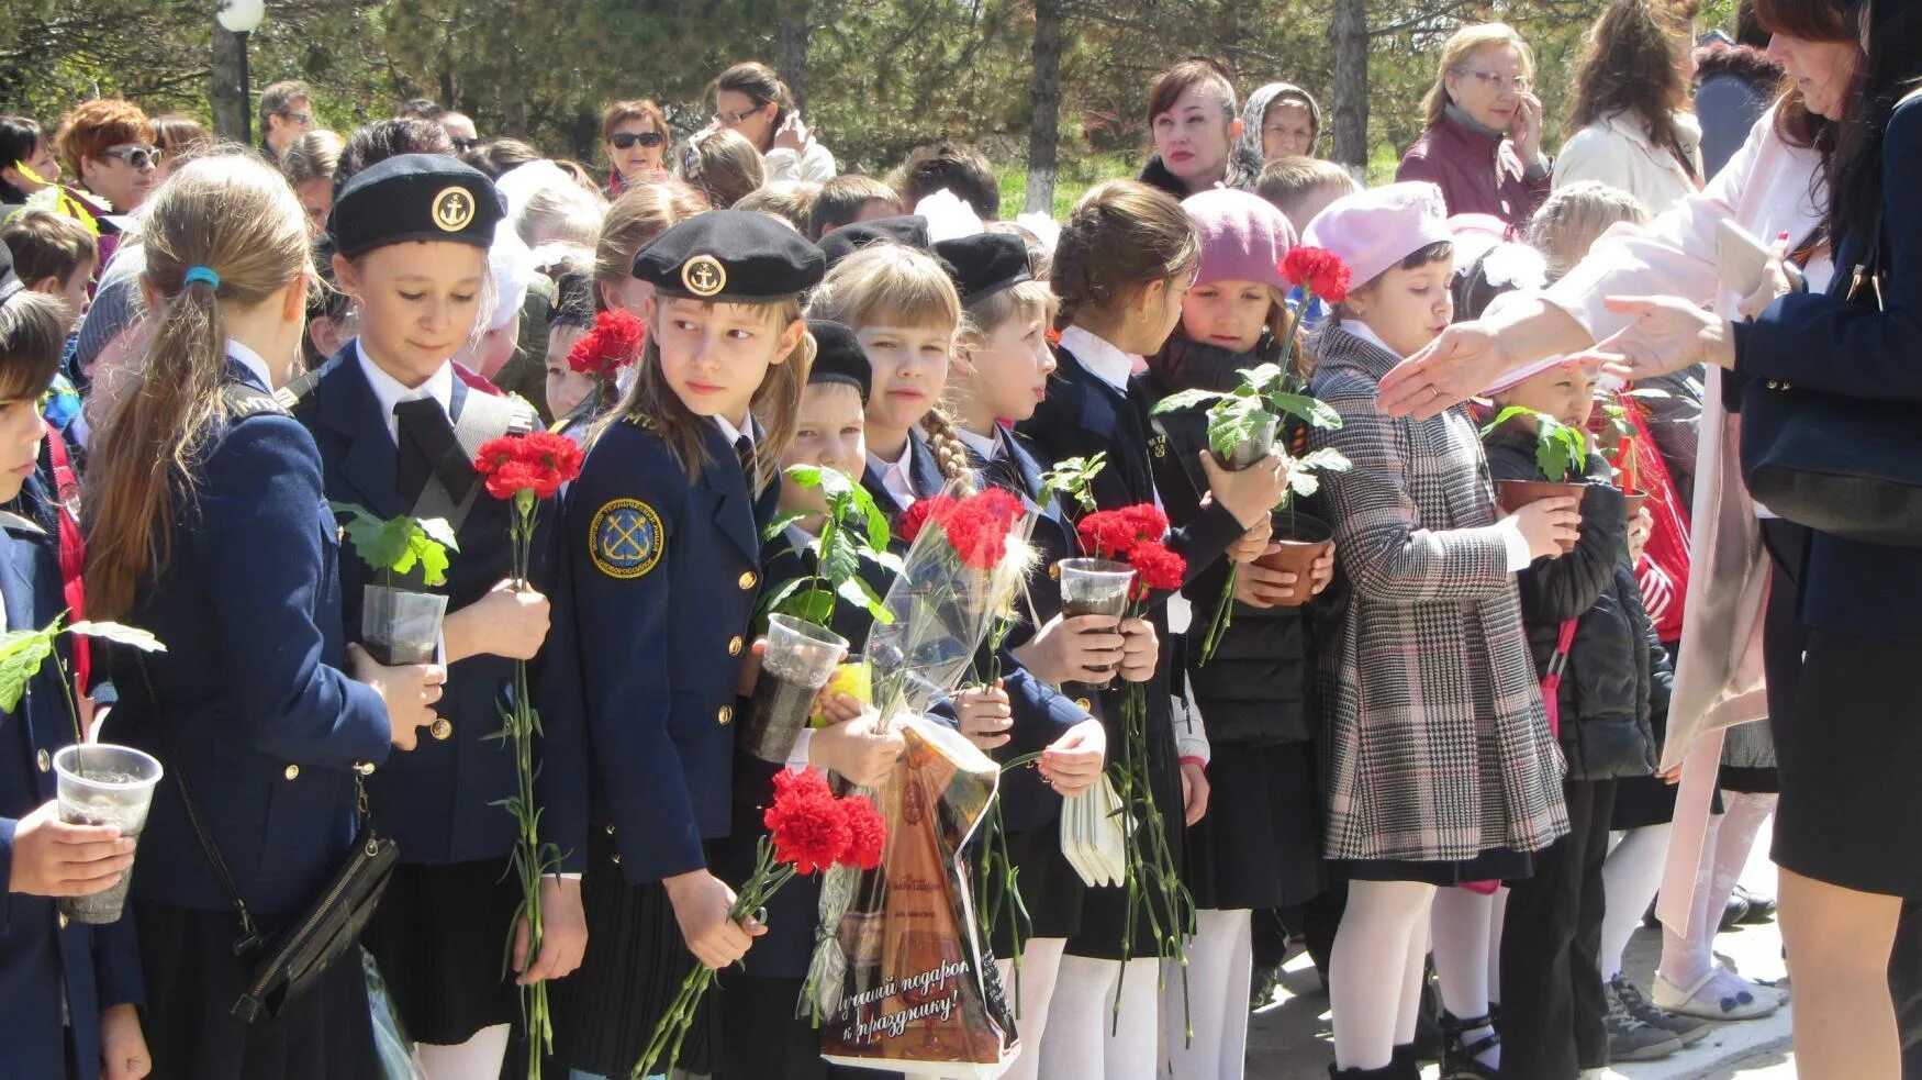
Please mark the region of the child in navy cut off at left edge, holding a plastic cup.
<svg viewBox="0 0 1922 1080"><path fill-rule="evenodd" d="M38 490L21 492L21 467L46 430L38 402L71 313L52 296L6 296L8 284L19 288L0 282L0 503L38 503ZM67 607L58 544L31 517L0 511L4 630L46 626ZM21 1076L136 1080L152 1061L136 1013L133 919L88 926L54 909L54 897L111 888L135 849L113 826L60 821L50 763L73 744L75 721L58 678L42 665L13 713L0 717L0 1045Z"/></svg>

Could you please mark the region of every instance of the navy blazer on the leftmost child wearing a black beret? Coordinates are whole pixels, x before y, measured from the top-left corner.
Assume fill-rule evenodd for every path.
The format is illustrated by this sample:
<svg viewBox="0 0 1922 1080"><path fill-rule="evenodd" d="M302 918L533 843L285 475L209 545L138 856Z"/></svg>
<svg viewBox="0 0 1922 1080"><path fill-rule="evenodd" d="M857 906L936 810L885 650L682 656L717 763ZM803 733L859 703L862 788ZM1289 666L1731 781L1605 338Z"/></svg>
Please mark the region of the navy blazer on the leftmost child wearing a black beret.
<svg viewBox="0 0 1922 1080"><path fill-rule="evenodd" d="M450 400L454 417L461 415L469 394L473 390L456 379ZM294 405L294 417L308 425L321 450L329 500L357 503L382 519L413 509L400 498L400 450L373 386L361 373L354 342L317 369L311 386ZM532 582L552 598L555 509L546 505L542 511L534 536ZM448 580L427 590L448 596L450 615L509 577L509 505L488 496L484 486L477 488L473 507L456 532L459 552L448 553ZM379 584L379 577L348 546L340 559L340 615L350 642L361 638L361 598L367 584ZM423 586L411 582L407 588ZM532 676L538 676L544 659L546 651L532 661ZM446 690L434 705L434 713L452 723L448 738L434 740L423 730L413 751L396 753L367 778L375 821L400 844L402 861L500 859L513 847L513 817L496 805L519 790L513 749L504 740L490 738L502 730L500 709L513 686L513 663L500 655L475 655L450 665ZM534 794L542 811L542 840L559 847L561 869L580 871L586 859L586 740L580 717L544 711L540 721Z"/></svg>

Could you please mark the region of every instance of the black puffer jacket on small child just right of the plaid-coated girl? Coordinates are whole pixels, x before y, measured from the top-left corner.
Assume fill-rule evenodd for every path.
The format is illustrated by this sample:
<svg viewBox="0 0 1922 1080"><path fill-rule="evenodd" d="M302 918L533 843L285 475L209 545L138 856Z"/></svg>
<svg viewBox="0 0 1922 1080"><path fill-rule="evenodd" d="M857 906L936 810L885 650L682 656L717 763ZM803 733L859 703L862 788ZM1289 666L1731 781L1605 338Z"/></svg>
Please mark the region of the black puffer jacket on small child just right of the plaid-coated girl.
<svg viewBox="0 0 1922 1080"><path fill-rule="evenodd" d="M1503 427L1488 440L1497 480L1534 480L1534 436ZM1522 621L1536 673L1547 671L1561 625L1578 619L1561 680L1561 746L1570 780L1647 776L1655 771L1651 711L1668 711L1674 669L1641 607L1628 563L1628 515L1609 482L1609 463L1588 459L1582 538L1559 559L1536 559L1520 573Z"/></svg>

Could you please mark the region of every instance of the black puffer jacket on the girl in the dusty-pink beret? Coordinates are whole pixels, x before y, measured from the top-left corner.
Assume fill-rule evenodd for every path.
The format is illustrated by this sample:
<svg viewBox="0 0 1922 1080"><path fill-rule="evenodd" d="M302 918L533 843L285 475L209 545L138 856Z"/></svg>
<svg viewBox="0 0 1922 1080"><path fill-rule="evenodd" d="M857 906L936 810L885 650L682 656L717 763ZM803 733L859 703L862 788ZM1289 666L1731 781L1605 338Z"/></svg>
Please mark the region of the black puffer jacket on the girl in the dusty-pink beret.
<svg viewBox="0 0 1922 1080"><path fill-rule="evenodd" d="M1176 390L1228 390L1244 367L1272 361L1272 348L1253 354L1228 352L1182 336L1147 357L1147 371L1134 377L1136 400L1153 407ZM1149 452L1155 490L1174 525L1199 513L1207 475L1197 455L1207 448L1205 409L1151 417ZM1313 500L1297 509L1313 515ZM1201 642L1228 582L1226 559L1203 571L1182 596L1192 605L1186 663L1188 680L1201 707L1209 742L1276 746L1315 736L1315 642L1340 615L1340 578L1303 607L1249 607L1234 603L1234 621L1209 663Z"/></svg>

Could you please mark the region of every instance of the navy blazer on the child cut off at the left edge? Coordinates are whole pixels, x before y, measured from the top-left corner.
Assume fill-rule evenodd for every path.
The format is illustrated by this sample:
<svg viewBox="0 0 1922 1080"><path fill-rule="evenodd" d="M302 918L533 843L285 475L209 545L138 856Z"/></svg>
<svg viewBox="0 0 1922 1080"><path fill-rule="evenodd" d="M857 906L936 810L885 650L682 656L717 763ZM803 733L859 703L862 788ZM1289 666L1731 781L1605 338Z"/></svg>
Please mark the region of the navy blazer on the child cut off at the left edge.
<svg viewBox="0 0 1922 1080"><path fill-rule="evenodd" d="M46 626L65 609L56 540L0 515L0 596L12 630ZM69 655L65 642L62 655ZM44 663L13 713L0 715L0 888L13 874L13 828L54 798L52 755L73 744L58 669ZM140 865L154 859L140 844ZM140 957L129 911L88 926L60 919L52 897L0 892L0 1045L13 1076L65 1076L71 1036L79 1080L100 1076L100 1011L140 1005ZM62 990L67 1022L62 1026Z"/></svg>

